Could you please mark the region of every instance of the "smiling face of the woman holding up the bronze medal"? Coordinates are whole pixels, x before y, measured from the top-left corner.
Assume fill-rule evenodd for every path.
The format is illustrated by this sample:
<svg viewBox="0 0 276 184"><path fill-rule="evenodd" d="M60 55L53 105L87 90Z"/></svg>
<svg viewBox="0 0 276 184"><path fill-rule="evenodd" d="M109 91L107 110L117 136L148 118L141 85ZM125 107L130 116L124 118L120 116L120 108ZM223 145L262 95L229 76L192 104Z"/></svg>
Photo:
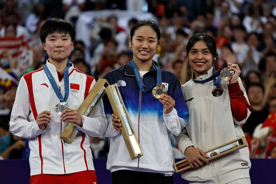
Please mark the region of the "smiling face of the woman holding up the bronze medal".
<svg viewBox="0 0 276 184"><path fill-rule="evenodd" d="M207 74L207 71L213 64L213 55L203 40L194 44L188 53L188 58L189 65L194 70L196 78L200 75Z"/></svg>

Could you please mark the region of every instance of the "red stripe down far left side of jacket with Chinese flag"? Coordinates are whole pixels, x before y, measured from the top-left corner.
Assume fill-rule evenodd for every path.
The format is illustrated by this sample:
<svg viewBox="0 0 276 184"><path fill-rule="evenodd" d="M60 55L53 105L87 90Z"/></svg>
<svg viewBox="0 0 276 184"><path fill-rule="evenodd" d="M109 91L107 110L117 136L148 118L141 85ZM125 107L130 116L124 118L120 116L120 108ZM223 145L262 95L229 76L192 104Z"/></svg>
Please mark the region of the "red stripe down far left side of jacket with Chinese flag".
<svg viewBox="0 0 276 184"><path fill-rule="evenodd" d="M32 112L33 112L33 116L34 119L36 120L37 117L37 111L36 111L36 104L34 102L34 97L33 97L33 81L32 81L32 75L33 73L37 72L37 71L41 71L43 70L43 68L40 68L36 71L32 71L29 72L25 75L23 75L26 83L27 83L27 87L28 87L28 91L29 91L29 98L30 98L30 105L32 108ZM42 148L41 148L41 134L38 136L38 147L39 147L39 156L40 156L40 160L41 160L41 174L43 174L43 158L42 158Z"/></svg>

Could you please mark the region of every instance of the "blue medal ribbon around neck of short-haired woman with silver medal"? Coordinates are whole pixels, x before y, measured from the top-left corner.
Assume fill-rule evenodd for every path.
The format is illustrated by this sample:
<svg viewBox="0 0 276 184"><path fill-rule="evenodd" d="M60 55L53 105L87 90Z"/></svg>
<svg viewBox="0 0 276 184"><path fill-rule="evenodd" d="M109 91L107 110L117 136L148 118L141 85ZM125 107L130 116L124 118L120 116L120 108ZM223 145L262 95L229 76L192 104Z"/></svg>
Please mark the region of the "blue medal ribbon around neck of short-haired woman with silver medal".
<svg viewBox="0 0 276 184"><path fill-rule="evenodd" d="M49 71L49 69L47 67L47 64L45 64L44 67L43 67L44 71L45 71L45 74L48 77L49 82L51 83L51 85L52 85L52 87L53 87L53 89L56 93L56 96L59 98L60 102L66 102L68 97L69 97L69 67L70 67L70 65L71 65L71 61L68 60L66 68L64 70L64 88L65 88L64 98L63 98L61 92L59 91L59 87L56 85L56 82L53 78L53 75Z"/></svg>

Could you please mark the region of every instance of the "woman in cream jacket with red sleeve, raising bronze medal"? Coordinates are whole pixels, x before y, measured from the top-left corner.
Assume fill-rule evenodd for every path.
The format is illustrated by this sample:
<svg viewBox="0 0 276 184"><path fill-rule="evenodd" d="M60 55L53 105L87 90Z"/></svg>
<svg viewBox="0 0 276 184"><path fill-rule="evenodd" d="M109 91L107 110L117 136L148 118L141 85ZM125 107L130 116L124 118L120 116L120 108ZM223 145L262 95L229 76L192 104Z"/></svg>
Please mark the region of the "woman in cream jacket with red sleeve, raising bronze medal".
<svg viewBox="0 0 276 184"><path fill-rule="evenodd" d="M213 79L212 65L218 60L216 43L205 33L190 38L185 59L193 70L192 79L182 85L189 123L176 140L194 170L182 172L182 178L193 184L250 183L248 148L210 163L204 152L244 136L240 125L249 117L251 107L239 77L239 66L228 63L235 72L229 82L220 81L219 76Z"/></svg>

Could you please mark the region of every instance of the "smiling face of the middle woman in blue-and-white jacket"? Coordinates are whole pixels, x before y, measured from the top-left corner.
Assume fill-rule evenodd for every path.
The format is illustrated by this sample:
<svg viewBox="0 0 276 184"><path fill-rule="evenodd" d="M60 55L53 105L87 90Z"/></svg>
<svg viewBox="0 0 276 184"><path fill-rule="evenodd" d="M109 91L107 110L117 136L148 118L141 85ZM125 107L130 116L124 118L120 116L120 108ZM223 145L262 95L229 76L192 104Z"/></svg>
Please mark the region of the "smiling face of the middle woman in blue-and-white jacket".
<svg viewBox="0 0 276 184"><path fill-rule="evenodd" d="M151 27L142 26L135 31L132 40L129 40L129 45L132 47L135 62L152 61L158 48L157 34Z"/></svg>

